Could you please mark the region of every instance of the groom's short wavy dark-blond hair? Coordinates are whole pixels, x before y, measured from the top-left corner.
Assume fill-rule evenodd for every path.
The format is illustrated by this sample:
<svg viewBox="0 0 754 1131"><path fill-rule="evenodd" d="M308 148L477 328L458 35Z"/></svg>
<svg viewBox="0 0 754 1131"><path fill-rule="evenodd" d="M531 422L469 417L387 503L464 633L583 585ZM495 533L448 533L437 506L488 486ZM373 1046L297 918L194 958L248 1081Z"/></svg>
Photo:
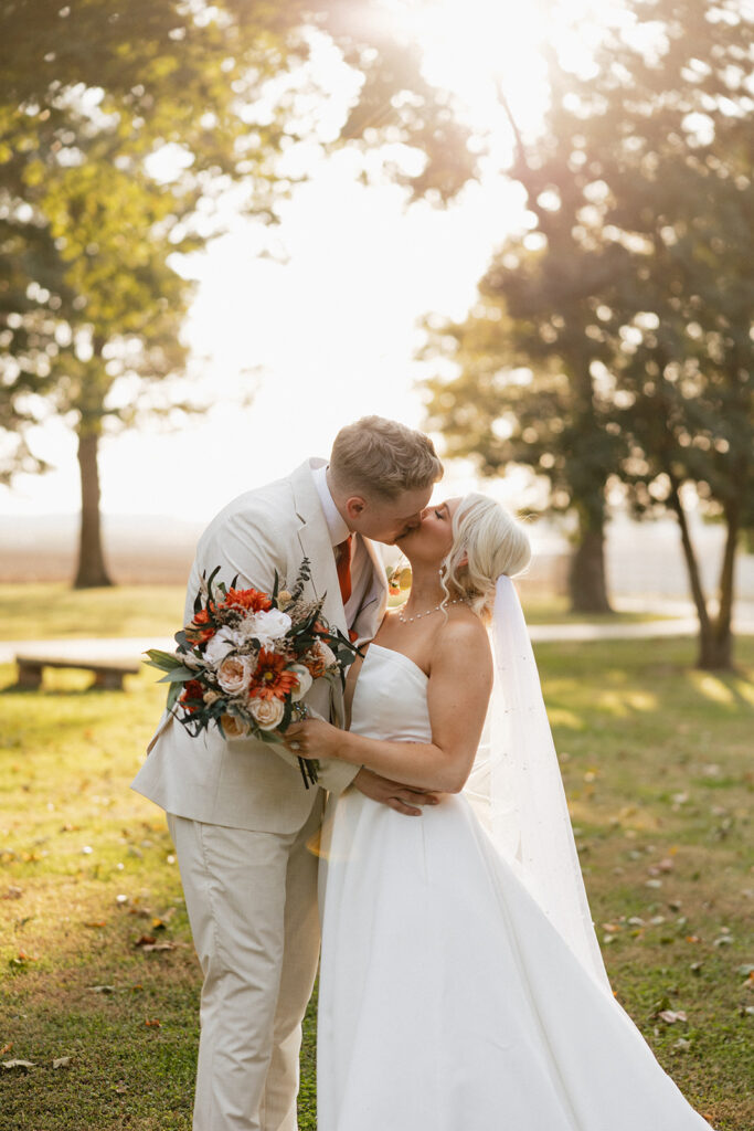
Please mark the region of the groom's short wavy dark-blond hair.
<svg viewBox="0 0 754 1131"><path fill-rule="evenodd" d="M330 474L339 491L392 500L432 486L442 478L442 464L428 435L398 421L363 416L335 438Z"/></svg>

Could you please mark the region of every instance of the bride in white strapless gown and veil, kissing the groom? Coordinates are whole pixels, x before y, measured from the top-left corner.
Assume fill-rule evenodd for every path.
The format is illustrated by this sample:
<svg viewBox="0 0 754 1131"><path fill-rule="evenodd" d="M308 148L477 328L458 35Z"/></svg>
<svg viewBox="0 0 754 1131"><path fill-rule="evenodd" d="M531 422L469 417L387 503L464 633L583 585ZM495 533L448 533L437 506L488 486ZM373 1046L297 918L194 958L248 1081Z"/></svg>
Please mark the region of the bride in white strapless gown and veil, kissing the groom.
<svg viewBox="0 0 754 1131"><path fill-rule="evenodd" d="M350 728L288 731L437 794L413 820L331 803L319 1131L710 1131L607 981L510 580L526 534L470 494L399 545L410 596L349 673Z"/></svg>

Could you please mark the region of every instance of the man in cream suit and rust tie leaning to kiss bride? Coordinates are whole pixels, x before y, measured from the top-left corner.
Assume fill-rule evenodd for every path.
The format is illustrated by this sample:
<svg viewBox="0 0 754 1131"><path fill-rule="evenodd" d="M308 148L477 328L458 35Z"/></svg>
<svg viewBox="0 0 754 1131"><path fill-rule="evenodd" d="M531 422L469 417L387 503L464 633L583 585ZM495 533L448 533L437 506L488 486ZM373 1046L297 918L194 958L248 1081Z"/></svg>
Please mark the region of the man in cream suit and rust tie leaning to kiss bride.
<svg viewBox="0 0 754 1131"><path fill-rule="evenodd" d="M352 639L372 639L387 580L370 539L419 523L442 465L421 432L367 416L341 429L329 464L228 503L199 539L184 623L202 572L270 593L309 558L312 599ZM306 702L343 725L343 693L315 681ZM301 1022L319 956L317 857L324 791L353 785L401 813L428 795L323 762L304 789L297 760L254 739L199 737L167 713L133 788L167 813L203 973L193 1131L295 1131Z"/></svg>

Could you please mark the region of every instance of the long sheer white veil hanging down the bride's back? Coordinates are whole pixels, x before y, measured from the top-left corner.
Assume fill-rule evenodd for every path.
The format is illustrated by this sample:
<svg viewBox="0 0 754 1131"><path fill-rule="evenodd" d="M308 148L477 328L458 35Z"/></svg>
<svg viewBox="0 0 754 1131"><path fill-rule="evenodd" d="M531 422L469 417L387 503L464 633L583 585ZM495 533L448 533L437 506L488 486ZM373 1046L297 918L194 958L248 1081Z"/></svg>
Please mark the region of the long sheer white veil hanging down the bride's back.
<svg viewBox="0 0 754 1131"><path fill-rule="evenodd" d="M591 921L553 735L521 603L497 578L495 679L463 793L497 851L582 965L612 994Z"/></svg>

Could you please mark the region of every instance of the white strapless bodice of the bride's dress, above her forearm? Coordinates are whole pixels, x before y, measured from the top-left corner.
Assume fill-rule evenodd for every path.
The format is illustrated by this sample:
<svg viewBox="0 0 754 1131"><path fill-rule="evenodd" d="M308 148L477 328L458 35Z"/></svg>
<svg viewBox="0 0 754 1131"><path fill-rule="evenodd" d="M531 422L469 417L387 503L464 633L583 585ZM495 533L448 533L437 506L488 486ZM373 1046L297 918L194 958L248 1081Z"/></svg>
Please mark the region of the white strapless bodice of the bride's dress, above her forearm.
<svg viewBox="0 0 754 1131"><path fill-rule="evenodd" d="M371 644L356 679L350 729L370 739L432 742L427 682L402 651Z"/></svg>

